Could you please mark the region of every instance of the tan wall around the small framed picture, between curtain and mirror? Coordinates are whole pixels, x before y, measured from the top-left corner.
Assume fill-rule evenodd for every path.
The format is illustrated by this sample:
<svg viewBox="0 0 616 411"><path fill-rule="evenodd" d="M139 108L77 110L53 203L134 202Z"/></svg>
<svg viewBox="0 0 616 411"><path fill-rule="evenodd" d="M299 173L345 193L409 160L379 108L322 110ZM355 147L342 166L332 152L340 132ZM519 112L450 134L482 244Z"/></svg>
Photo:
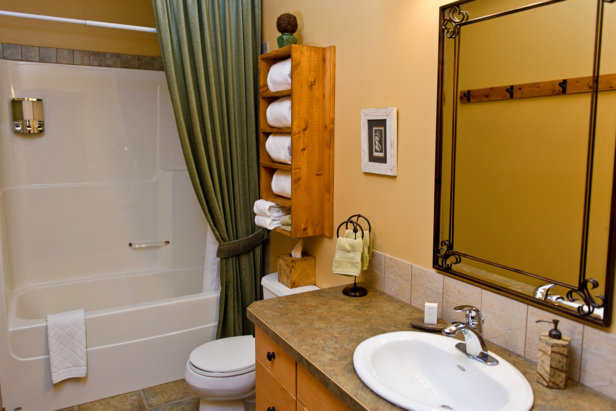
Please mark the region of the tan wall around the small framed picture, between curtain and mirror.
<svg viewBox="0 0 616 411"><path fill-rule="evenodd" d="M264 0L262 41L277 49L275 20L298 17L299 44L336 46L334 227L368 216L374 248L432 266L439 7L442 0ZM360 110L397 107L398 176L362 173ZM296 240L271 235L271 271ZM331 272L335 239L307 238L317 286L351 282ZM614 327L616 333L616 327Z"/></svg>

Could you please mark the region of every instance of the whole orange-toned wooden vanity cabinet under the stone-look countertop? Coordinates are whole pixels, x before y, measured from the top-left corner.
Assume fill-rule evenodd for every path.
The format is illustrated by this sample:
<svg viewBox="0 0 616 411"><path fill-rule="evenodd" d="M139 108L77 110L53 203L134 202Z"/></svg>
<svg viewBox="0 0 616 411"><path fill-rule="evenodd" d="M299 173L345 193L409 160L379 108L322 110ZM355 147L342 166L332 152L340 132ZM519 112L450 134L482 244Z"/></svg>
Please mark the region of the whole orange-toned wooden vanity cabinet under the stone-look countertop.
<svg viewBox="0 0 616 411"><path fill-rule="evenodd" d="M255 338L256 411L351 411L259 328Z"/></svg>

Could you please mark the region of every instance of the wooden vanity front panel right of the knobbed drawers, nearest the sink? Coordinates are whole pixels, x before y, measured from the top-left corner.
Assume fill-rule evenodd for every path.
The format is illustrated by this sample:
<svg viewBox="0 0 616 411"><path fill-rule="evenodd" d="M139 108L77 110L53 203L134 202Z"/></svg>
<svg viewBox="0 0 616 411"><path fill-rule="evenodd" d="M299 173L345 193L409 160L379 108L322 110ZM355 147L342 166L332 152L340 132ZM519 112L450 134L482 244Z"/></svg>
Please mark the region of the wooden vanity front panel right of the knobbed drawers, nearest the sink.
<svg viewBox="0 0 616 411"><path fill-rule="evenodd" d="M298 404L304 405L307 411L351 411L338 397L334 396L329 389L318 382L299 364Z"/></svg>

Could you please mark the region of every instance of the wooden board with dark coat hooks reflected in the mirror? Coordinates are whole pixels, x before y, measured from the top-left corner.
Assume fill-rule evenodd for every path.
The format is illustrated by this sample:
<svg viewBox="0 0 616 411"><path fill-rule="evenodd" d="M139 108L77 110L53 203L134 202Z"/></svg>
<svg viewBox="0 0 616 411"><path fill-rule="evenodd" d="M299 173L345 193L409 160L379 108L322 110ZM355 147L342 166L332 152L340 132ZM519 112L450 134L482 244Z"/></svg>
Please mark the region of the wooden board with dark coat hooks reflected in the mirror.
<svg viewBox="0 0 616 411"><path fill-rule="evenodd" d="M563 94L578 94L593 90L593 77L575 77L567 79L567 92L563 93L561 83L563 79L537 81L535 83L509 84L509 86L487 87L484 89L461 90L460 103L477 103L492 100L525 99L528 97L559 96ZM506 91L513 86L513 97ZM616 90L616 73L599 76L598 91ZM464 94L470 93L470 101Z"/></svg>

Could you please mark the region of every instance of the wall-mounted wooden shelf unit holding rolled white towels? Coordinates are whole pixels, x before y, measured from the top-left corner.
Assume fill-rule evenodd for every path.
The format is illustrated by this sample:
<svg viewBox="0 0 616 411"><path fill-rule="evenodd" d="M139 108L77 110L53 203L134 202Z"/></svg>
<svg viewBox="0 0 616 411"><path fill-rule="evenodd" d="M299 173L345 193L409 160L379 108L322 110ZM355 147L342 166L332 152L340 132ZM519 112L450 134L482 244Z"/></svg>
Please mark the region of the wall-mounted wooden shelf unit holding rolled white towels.
<svg viewBox="0 0 616 411"><path fill-rule="evenodd" d="M267 73L291 58L291 90L270 92ZM291 207L291 237L333 236L334 230L334 78L336 47L291 44L259 60L259 154L261 198ZM291 96L291 128L270 128L267 107ZM291 165L272 160L265 142L272 132L291 133ZM272 192L278 169L291 171L291 198Z"/></svg>

